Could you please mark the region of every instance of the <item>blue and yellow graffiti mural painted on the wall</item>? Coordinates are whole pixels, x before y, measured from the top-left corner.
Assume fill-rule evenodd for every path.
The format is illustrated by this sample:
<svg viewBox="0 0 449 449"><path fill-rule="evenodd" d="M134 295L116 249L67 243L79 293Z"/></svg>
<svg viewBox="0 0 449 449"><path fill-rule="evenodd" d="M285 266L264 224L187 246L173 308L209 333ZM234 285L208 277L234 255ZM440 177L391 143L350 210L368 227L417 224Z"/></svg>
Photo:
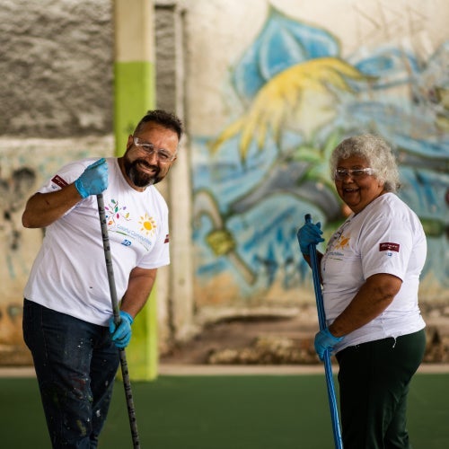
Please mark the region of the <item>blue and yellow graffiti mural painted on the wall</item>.
<svg viewBox="0 0 449 449"><path fill-rule="evenodd" d="M230 68L244 112L218 136L194 139L198 304L298 300L310 281L296 231L306 213L327 236L345 218L329 154L362 132L397 152L399 195L428 237L423 277L448 286L449 40L424 59L390 41L342 57L330 31L269 8Z"/></svg>

